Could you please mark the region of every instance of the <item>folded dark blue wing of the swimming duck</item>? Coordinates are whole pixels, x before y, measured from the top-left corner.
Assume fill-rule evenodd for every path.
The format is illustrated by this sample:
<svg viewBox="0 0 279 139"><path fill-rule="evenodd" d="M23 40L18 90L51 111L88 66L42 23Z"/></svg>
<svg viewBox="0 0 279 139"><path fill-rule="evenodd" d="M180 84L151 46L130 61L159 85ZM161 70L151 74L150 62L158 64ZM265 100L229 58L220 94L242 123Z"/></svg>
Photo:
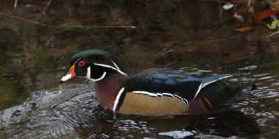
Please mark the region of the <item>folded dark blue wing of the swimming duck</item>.
<svg viewBox="0 0 279 139"><path fill-rule="evenodd" d="M173 74L176 72L175 70L163 69L160 73L162 71L163 74L135 76L135 78L128 81L126 91L142 92L153 97L156 97L156 94L168 93L171 95L179 95L185 99L195 99L200 90L206 87L206 85L232 76L231 74L221 74L197 78L185 72L182 74Z"/></svg>

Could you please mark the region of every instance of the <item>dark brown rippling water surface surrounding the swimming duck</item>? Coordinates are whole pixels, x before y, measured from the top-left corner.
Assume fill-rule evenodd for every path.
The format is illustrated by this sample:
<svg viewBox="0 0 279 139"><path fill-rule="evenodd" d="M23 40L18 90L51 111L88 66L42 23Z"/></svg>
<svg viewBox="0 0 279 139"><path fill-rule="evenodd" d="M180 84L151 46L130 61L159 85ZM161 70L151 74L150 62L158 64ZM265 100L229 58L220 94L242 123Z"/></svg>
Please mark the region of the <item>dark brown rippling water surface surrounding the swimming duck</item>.
<svg viewBox="0 0 279 139"><path fill-rule="evenodd" d="M266 1L13 1L0 3L1 138L279 138L279 45L253 13ZM45 12L45 14L43 14ZM136 28L73 27L76 25ZM246 31L237 28L250 27ZM204 115L121 115L96 101L94 83L59 84L71 56L110 51L130 73L170 67L233 74L257 90L227 111Z"/></svg>

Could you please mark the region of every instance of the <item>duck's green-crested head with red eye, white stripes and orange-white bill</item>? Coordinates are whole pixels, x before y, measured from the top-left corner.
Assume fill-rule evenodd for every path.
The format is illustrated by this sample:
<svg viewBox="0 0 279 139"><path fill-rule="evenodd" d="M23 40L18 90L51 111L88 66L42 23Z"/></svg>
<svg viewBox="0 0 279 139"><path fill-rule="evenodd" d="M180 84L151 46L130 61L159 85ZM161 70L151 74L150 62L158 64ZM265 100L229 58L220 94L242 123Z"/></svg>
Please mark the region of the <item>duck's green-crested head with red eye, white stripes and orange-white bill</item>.
<svg viewBox="0 0 279 139"><path fill-rule="evenodd" d="M115 72L128 76L112 54L98 49L81 51L73 56L70 62L70 71L66 76L63 76L60 83L64 83L76 76L97 82L104 79L108 74Z"/></svg>

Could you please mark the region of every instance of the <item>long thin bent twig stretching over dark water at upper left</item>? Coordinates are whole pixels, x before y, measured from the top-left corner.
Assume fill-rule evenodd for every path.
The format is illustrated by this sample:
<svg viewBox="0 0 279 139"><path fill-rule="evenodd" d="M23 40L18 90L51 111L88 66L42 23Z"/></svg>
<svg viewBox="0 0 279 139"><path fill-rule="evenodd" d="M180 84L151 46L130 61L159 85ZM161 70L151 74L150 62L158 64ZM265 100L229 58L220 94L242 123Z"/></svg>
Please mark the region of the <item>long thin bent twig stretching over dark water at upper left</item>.
<svg viewBox="0 0 279 139"><path fill-rule="evenodd" d="M9 14L2 13L2 12L0 12L0 15L5 15L5 16L7 16L7 17L11 17L11 18L15 18L15 19L22 20L22 21L24 21L24 22L29 22L29 23L32 23L32 24L37 24L37 25L40 25L40 26L49 26L49 27L135 28L135 26L99 26L99 25L89 25L89 26L76 25L76 26L68 26L68 25L65 25L65 24L61 24L61 25L43 24L43 23L34 22L34 21L32 21L32 20L29 20L29 19L24 19L24 18L22 18L22 17L17 17L17 16L15 16L15 15L9 15Z"/></svg>

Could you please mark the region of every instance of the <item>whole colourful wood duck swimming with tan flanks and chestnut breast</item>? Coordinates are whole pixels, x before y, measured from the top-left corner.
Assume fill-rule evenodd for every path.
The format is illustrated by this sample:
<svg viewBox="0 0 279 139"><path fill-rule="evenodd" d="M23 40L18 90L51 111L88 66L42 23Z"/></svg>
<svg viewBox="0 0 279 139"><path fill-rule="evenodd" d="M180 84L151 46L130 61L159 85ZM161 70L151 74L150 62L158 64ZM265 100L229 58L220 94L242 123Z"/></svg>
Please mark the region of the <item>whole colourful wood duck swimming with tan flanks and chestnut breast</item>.
<svg viewBox="0 0 279 139"><path fill-rule="evenodd" d="M220 81L231 74L206 77L151 68L131 76L112 54L98 49L75 54L61 83L76 76L96 82L100 105L114 112L140 115L208 113L238 103L245 92L255 89L251 84L228 85Z"/></svg>

